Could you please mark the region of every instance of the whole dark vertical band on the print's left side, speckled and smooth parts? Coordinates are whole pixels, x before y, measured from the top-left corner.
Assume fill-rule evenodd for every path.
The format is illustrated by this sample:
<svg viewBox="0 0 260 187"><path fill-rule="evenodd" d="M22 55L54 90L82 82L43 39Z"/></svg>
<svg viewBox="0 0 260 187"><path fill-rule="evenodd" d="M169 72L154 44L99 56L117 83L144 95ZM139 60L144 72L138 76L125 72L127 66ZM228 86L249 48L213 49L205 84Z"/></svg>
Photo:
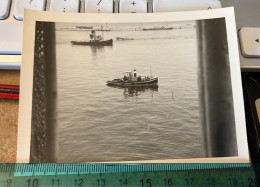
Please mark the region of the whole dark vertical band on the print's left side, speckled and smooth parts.
<svg viewBox="0 0 260 187"><path fill-rule="evenodd" d="M55 162L56 58L54 23L36 23L33 75L30 162Z"/></svg>

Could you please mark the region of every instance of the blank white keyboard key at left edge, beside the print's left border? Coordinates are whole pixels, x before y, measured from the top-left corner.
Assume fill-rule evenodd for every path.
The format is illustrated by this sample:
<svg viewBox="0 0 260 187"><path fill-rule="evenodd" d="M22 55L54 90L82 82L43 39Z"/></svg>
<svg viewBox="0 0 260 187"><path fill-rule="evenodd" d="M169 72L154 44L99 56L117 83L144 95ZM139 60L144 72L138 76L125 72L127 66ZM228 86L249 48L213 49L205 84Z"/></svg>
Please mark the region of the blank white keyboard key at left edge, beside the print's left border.
<svg viewBox="0 0 260 187"><path fill-rule="evenodd" d="M0 22L0 54L21 54L22 51L22 22Z"/></svg>

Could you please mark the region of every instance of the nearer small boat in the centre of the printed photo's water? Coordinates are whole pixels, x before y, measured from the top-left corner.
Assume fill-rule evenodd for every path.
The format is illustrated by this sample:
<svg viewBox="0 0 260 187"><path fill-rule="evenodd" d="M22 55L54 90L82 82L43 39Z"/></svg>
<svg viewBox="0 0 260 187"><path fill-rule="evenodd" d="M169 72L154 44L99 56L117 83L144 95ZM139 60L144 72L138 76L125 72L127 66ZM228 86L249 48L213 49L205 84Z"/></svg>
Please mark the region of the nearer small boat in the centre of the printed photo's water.
<svg viewBox="0 0 260 187"><path fill-rule="evenodd" d="M147 87L158 85L158 76L138 76L137 71L127 71L123 73L123 78L107 81L107 86L114 87Z"/></svg>

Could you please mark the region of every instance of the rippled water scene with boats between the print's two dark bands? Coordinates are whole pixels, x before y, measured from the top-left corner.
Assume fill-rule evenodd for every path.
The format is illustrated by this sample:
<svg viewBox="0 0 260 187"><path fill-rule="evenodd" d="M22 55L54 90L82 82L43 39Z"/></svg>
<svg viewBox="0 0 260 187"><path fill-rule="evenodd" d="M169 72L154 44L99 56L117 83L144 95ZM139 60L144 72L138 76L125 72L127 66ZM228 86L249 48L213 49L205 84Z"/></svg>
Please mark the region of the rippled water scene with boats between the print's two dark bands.
<svg viewBox="0 0 260 187"><path fill-rule="evenodd" d="M58 162L205 157L195 22L55 25Z"/></svg>

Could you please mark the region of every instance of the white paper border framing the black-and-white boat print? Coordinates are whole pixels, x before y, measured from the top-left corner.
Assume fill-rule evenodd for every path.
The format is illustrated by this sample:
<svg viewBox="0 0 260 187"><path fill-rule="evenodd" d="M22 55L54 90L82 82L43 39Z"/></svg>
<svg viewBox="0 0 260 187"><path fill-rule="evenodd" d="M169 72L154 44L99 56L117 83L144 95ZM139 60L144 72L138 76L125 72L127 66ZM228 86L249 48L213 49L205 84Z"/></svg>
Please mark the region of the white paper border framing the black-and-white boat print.
<svg viewBox="0 0 260 187"><path fill-rule="evenodd" d="M240 61L234 8L221 8L201 11L166 12L166 13L54 13L26 10L24 15L23 48L20 80L20 103L18 117L17 162L29 163L31 146L31 118L33 94L34 41L36 21L67 22L67 23L142 23L142 22L174 22L195 21L204 19L225 18L228 51L231 71L234 115L238 157L203 158L203 159L172 159L141 162L249 162L247 133L240 74ZM138 161L140 162L140 161Z"/></svg>

